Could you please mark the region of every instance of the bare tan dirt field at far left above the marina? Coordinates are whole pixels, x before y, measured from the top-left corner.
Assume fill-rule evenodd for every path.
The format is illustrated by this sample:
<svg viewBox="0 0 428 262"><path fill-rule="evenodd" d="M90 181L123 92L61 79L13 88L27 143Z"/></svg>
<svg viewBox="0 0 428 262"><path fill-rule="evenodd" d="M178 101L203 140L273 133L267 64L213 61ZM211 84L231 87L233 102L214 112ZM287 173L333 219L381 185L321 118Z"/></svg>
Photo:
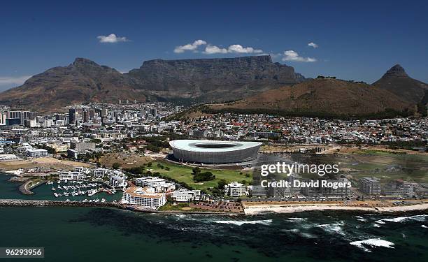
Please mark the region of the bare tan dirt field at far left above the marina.
<svg viewBox="0 0 428 262"><path fill-rule="evenodd" d="M37 167L48 167L53 169L73 169L76 166L90 167L87 163L80 163L70 160L58 160L53 157L41 157L36 159L29 160L20 160L20 161L1 161L0 169L6 171L17 170L20 168L37 168Z"/></svg>

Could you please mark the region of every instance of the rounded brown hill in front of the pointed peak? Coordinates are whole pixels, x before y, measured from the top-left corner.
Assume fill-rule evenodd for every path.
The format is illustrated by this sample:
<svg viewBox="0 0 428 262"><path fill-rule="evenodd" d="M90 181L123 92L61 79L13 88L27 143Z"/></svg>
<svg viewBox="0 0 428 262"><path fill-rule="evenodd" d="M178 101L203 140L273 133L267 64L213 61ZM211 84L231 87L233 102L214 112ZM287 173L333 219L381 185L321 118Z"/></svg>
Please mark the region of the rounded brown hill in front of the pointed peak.
<svg viewBox="0 0 428 262"><path fill-rule="evenodd" d="M267 113L290 116L364 117L410 112L399 96L363 82L331 78L271 89L241 101L205 105L205 112Z"/></svg>

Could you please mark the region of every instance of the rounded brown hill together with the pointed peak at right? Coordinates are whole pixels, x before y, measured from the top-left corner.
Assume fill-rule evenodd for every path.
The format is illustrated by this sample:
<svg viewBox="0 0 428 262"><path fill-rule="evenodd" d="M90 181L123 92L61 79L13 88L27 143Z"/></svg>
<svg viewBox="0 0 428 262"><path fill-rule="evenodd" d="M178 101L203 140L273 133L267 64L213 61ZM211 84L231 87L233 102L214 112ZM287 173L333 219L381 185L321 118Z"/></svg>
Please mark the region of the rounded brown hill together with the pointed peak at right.
<svg viewBox="0 0 428 262"><path fill-rule="evenodd" d="M204 105L199 110L320 117L394 117L413 115L416 111L426 114L427 102L428 85L410 78L397 64L373 85L320 77L270 89L239 101Z"/></svg>

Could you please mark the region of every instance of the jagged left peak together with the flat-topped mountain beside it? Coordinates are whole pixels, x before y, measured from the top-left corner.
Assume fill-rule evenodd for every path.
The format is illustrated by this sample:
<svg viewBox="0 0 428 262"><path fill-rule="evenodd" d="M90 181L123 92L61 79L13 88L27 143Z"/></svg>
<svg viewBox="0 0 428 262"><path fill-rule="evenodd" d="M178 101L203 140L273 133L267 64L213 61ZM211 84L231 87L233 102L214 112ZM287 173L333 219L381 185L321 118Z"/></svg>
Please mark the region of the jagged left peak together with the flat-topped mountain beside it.
<svg viewBox="0 0 428 262"><path fill-rule="evenodd" d="M294 73L294 68L273 63L270 56L155 59L124 74L89 59L76 58L69 66L50 68L24 85L1 93L0 104L58 110L74 103L117 103L120 99L227 101L304 80Z"/></svg>

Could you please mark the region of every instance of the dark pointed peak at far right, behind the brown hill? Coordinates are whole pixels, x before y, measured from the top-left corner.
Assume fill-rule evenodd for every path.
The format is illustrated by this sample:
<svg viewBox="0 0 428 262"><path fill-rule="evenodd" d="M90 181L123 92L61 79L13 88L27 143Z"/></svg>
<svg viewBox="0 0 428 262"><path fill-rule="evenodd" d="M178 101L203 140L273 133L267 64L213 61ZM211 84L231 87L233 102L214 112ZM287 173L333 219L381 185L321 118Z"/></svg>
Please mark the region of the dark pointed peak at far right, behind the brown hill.
<svg viewBox="0 0 428 262"><path fill-rule="evenodd" d="M428 85L409 77L399 64L392 66L382 78L373 83L411 103L420 103L428 92Z"/></svg>

